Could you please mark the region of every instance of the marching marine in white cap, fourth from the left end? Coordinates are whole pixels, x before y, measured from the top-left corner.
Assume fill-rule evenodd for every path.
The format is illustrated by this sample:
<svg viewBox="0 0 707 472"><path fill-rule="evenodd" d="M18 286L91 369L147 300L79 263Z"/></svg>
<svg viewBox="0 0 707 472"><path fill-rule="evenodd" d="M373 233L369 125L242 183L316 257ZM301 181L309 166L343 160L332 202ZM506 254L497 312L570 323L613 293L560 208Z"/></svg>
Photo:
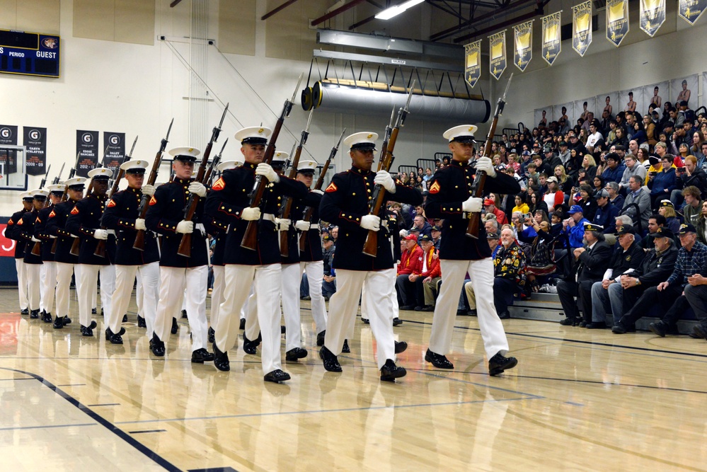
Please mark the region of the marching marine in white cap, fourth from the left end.
<svg viewBox="0 0 707 472"><path fill-rule="evenodd" d="M55 238L52 251L54 251L54 262L57 263L57 316L54 318L54 329L64 328L64 325L71 323L69 318L71 275L76 275L76 285L81 282L79 258L71 254L71 246L76 236L66 228L66 224L71 210L84 196L84 183L86 179L83 177L70 178L64 182L67 201L55 205L47 219L47 233Z"/></svg>

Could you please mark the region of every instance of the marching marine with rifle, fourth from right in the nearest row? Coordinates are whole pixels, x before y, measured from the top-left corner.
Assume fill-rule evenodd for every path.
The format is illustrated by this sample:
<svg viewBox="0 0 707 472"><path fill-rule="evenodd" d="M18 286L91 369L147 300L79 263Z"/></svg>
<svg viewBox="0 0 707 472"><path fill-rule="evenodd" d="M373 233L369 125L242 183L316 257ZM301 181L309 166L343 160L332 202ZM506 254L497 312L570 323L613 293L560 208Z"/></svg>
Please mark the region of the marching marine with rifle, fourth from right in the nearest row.
<svg viewBox="0 0 707 472"><path fill-rule="evenodd" d="M145 217L145 226L161 236L159 303L154 322L150 349L157 357L165 354L165 343L171 335L172 317L185 300L192 339L191 361L197 364L211 361L214 355L207 351L208 324L206 294L209 278L207 233L204 227L206 187L192 180L199 149L178 147L169 151L174 157L174 178L160 185L152 195ZM184 209L190 195L199 198L191 220L184 218ZM185 234L191 234L190 257L178 254Z"/></svg>

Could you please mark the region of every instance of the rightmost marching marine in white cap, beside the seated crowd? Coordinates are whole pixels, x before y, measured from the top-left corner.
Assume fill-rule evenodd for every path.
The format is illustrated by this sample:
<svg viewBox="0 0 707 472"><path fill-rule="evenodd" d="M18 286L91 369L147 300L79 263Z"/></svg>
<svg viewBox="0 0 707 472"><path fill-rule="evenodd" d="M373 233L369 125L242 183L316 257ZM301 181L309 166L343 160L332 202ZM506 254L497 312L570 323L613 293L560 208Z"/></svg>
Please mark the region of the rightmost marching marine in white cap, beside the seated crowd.
<svg viewBox="0 0 707 472"><path fill-rule="evenodd" d="M490 375L495 376L515 367L518 361L515 357L505 357L508 340L493 304L493 259L485 229L479 226L478 235L473 238L466 235L466 229L470 213L481 212L483 202L471 194L476 172L486 173L484 192L515 195L520 192L520 185L510 175L496 173L488 157L478 159L476 168L469 165L476 143L474 132L476 126L473 125L456 126L444 132L444 139L447 139L452 151L452 161L435 173L425 205L428 217L444 218L439 248L443 283L435 305L430 347L425 353L425 360L438 369L454 368L446 355L452 345L454 305L459 300L464 275L469 272L476 294L478 323L488 357L488 370Z"/></svg>

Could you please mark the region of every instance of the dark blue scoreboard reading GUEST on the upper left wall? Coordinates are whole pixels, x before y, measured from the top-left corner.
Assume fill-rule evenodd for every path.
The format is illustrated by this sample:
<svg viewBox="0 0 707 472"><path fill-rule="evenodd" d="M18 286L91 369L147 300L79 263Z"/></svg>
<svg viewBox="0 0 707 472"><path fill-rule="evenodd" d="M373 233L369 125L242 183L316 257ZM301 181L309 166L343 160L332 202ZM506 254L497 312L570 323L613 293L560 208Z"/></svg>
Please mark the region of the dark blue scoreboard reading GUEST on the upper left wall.
<svg viewBox="0 0 707 472"><path fill-rule="evenodd" d="M59 77L59 35L0 30L0 72Z"/></svg>

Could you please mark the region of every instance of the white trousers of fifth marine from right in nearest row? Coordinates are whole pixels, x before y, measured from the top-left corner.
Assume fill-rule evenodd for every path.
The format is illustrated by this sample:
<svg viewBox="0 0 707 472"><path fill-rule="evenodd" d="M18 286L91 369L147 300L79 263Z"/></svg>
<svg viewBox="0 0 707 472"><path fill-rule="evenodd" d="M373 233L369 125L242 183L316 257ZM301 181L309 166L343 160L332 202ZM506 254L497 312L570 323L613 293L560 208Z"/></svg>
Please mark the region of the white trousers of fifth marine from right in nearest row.
<svg viewBox="0 0 707 472"><path fill-rule="evenodd" d="M143 308L146 313L147 335L152 338L155 316L157 312L157 299L159 298L159 263L146 265L116 265L115 266L115 292L111 299L110 318L108 328L113 333L120 331L122 316L127 313L132 294L132 284L136 274L141 275L142 293L144 297ZM144 284L144 285L143 285ZM103 286L101 285L101 289Z"/></svg>

